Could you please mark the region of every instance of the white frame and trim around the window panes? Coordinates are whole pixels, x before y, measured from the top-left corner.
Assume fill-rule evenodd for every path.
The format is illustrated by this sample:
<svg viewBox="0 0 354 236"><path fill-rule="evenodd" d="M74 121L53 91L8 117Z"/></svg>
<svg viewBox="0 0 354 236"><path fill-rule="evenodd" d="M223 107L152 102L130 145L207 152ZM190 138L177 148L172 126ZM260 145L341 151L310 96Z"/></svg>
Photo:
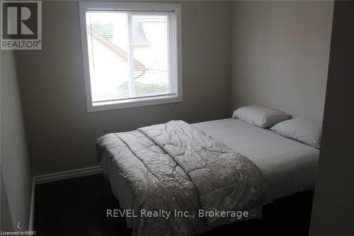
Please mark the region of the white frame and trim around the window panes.
<svg viewBox="0 0 354 236"><path fill-rule="evenodd" d="M114 101L111 104L93 106L91 97L91 81L89 67L89 48L87 43L86 32L86 11L89 10L137 10L137 11L174 11L176 18L173 25L172 42L173 51L176 54L176 95L166 95L159 97L149 97L142 99L125 99L122 101ZM81 46L84 64L84 83L86 93L86 106L88 112L108 111L120 108L132 108L138 106L152 106L166 103L177 103L183 101L182 96L182 35L181 35L181 4L150 4L150 3L127 3L114 1L80 1L80 28L81 28Z"/></svg>

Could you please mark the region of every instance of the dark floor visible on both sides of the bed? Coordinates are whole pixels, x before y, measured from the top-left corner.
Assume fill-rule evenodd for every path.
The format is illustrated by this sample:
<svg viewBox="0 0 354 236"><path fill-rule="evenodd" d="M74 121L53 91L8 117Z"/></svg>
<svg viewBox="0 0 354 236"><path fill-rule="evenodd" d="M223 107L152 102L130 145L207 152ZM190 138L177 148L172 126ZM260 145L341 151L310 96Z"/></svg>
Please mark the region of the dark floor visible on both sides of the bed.
<svg viewBox="0 0 354 236"><path fill-rule="evenodd" d="M308 235L313 192L283 198L263 208L261 220L226 225L204 235ZM36 235L131 235L125 218L106 218L119 208L102 174L35 187Z"/></svg>

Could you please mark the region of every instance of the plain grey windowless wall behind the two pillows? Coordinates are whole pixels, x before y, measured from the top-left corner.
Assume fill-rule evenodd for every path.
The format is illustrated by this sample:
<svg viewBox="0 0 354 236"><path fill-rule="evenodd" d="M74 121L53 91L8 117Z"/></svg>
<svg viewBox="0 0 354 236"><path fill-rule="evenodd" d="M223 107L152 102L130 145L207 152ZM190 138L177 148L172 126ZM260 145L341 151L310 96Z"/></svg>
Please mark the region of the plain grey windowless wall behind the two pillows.
<svg viewBox="0 0 354 236"><path fill-rule="evenodd" d="M232 110L258 104L322 120L332 1L234 1Z"/></svg>

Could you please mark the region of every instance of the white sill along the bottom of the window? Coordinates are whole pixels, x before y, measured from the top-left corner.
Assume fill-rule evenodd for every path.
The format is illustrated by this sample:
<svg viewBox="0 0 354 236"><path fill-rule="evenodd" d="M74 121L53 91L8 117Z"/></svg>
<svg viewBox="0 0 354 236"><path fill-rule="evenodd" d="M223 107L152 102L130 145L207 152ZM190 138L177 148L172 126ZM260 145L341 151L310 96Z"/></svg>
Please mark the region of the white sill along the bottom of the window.
<svg viewBox="0 0 354 236"><path fill-rule="evenodd" d="M166 103L179 103L182 102L183 99L178 96L161 96L159 98L149 98L149 99L131 99L130 101L113 101L110 104L102 104L102 105L93 105L88 104L87 111L95 112L95 111L109 111L116 110L122 108L133 108L139 106L154 106Z"/></svg>

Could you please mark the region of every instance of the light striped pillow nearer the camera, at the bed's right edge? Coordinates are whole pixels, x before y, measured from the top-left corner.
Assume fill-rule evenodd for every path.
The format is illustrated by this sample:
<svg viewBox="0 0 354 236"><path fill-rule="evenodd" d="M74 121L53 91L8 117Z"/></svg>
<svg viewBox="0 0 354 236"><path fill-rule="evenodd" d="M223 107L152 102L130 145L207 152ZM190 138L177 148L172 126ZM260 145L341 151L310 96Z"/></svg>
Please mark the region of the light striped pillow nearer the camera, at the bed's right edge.
<svg viewBox="0 0 354 236"><path fill-rule="evenodd" d="M282 121L270 129L275 130L282 136L290 137L319 149L322 130L322 124L319 122L294 118Z"/></svg>

